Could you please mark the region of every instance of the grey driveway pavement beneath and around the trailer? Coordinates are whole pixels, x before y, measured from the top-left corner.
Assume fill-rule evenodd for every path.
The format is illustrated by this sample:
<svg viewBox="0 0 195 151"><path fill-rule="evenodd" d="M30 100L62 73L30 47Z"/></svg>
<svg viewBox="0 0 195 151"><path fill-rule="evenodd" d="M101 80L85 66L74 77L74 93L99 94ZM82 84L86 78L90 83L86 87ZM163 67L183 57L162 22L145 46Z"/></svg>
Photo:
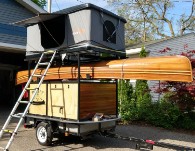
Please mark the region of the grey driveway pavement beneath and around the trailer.
<svg viewBox="0 0 195 151"><path fill-rule="evenodd" d="M7 112L7 109L0 109L0 128L5 122L8 114L9 112ZM13 121L11 127L14 127L15 123L16 121ZM123 136L133 136L195 148L195 132L181 133L149 126L118 125L116 133ZM0 141L0 146L5 145L7 139L8 137L4 137ZM134 142L114 138L104 138L95 135L87 140L79 140L78 138L66 138L64 141L54 140L52 146L46 147L38 144L34 129L24 129L21 127L10 151L130 151L135 150L135 145ZM144 149L142 150L144 151ZM154 147L154 150L168 151L172 149Z"/></svg>

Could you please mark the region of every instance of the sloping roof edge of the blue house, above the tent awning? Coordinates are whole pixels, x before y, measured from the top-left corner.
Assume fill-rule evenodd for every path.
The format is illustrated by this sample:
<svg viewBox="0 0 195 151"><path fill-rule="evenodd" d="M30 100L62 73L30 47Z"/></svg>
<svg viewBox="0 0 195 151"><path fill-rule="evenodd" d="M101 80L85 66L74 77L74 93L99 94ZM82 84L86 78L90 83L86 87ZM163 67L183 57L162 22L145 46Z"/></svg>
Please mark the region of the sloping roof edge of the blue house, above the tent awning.
<svg viewBox="0 0 195 151"><path fill-rule="evenodd" d="M47 13L46 10L44 10L41 7L39 7L38 5L36 5L31 0L16 0L16 1L18 3L20 3L22 6L24 6L25 8L27 8L28 10L30 10L31 12L35 13L35 14Z"/></svg>

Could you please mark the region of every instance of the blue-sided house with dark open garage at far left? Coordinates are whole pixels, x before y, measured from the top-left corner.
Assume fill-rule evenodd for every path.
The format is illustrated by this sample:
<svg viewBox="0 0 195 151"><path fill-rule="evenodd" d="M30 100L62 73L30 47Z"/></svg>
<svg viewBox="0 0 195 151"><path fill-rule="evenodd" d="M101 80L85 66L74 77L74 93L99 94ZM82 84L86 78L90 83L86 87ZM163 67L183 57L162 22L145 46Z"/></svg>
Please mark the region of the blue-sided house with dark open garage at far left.
<svg viewBox="0 0 195 151"><path fill-rule="evenodd" d="M0 104L14 104L15 73L27 68L26 28L12 23L37 13L46 11L30 0L0 0Z"/></svg>

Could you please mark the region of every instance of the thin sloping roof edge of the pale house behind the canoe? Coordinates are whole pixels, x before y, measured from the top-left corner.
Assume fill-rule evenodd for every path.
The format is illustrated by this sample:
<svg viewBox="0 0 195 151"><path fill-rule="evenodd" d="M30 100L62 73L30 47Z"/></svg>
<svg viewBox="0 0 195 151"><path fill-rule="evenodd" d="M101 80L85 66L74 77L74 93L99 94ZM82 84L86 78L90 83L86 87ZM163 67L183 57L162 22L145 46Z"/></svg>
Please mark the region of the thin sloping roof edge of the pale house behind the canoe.
<svg viewBox="0 0 195 151"><path fill-rule="evenodd" d="M149 45L157 44L157 43L160 43L160 42L165 42L167 40L177 39L177 38L181 38L181 37L189 36L189 35L194 35L195 36L195 33L192 32L192 33L188 33L188 34L181 35L181 36L177 36L177 37L163 38L163 39L158 39L158 40L143 42L143 43L139 43L139 44L136 44L136 45L132 45L130 47L127 47L126 50L141 48L142 46L149 46Z"/></svg>

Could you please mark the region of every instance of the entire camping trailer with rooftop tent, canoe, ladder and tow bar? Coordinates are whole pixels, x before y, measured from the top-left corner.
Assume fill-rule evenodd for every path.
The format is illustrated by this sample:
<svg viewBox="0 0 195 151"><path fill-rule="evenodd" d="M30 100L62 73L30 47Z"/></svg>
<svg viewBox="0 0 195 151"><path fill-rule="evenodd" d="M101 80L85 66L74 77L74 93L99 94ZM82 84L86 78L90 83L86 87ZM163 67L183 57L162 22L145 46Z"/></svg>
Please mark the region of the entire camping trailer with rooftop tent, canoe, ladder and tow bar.
<svg viewBox="0 0 195 151"><path fill-rule="evenodd" d="M113 133L120 119L117 79L192 81L186 57L126 59L125 23L124 18L92 4L39 14L18 23L27 26L29 67L16 77L16 84L26 84L0 131L0 138L11 134L4 151L23 121L26 128L36 129L41 145L50 145L55 137L85 139L100 134L135 141L137 149L171 146ZM28 100L22 100L24 96ZM20 104L26 108L16 113ZM12 118L19 121L10 131L7 127Z"/></svg>

